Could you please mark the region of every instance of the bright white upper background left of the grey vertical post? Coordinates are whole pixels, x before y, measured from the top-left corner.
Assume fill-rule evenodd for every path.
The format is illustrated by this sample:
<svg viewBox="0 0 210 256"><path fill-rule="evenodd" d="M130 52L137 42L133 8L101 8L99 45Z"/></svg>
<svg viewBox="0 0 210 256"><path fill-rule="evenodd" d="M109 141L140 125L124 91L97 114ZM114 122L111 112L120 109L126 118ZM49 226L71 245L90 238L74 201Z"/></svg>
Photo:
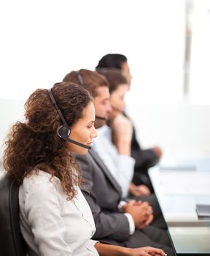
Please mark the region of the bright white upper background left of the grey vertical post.
<svg viewBox="0 0 210 256"><path fill-rule="evenodd" d="M0 97L26 99L73 69L94 69L106 53L123 53L141 101L182 98L183 0L7 0L0 24Z"/></svg>

